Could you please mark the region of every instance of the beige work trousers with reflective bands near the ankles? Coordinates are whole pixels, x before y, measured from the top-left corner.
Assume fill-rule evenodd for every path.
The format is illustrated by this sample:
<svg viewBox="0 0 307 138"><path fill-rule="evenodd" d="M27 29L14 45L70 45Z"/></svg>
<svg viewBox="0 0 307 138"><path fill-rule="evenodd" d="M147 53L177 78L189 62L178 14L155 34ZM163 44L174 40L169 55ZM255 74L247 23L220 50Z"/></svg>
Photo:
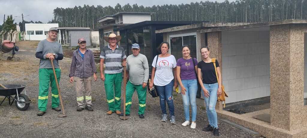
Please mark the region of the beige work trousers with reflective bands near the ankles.
<svg viewBox="0 0 307 138"><path fill-rule="evenodd" d="M79 78L74 77L75 87L76 87L76 95L77 95L77 104L78 107L85 108L86 106L92 106L92 96L91 96L91 82L93 78ZM85 91L85 104L84 104L84 93Z"/></svg>

